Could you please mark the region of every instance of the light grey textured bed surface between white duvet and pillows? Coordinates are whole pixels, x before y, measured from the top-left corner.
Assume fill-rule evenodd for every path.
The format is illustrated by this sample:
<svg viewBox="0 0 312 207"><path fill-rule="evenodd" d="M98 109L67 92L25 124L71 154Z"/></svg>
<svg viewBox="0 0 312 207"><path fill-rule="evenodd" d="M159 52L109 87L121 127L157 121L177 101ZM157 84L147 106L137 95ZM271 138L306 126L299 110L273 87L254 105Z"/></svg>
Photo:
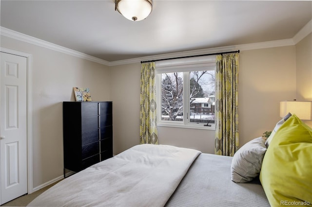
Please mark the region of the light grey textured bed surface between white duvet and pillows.
<svg viewBox="0 0 312 207"><path fill-rule="evenodd" d="M166 206L270 207L259 179L231 180L232 157L200 154Z"/></svg>

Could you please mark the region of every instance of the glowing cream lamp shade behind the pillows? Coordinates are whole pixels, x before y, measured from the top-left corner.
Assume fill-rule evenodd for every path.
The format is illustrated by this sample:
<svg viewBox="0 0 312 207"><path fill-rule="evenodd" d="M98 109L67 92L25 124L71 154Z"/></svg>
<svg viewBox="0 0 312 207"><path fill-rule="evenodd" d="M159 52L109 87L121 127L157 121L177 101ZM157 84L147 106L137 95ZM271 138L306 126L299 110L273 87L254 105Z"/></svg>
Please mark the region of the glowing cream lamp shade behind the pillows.
<svg viewBox="0 0 312 207"><path fill-rule="evenodd" d="M312 102L283 101L279 104L279 116L295 114L301 120L311 120Z"/></svg>

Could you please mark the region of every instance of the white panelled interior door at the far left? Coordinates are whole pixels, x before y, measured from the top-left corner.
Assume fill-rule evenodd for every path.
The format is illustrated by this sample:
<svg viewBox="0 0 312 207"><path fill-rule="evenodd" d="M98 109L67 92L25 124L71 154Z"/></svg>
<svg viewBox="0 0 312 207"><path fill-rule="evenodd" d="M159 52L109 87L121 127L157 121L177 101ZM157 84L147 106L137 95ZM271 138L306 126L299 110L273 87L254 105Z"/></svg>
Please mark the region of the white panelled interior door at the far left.
<svg viewBox="0 0 312 207"><path fill-rule="evenodd" d="M27 193L27 58L0 55L0 204L4 204Z"/></svg>

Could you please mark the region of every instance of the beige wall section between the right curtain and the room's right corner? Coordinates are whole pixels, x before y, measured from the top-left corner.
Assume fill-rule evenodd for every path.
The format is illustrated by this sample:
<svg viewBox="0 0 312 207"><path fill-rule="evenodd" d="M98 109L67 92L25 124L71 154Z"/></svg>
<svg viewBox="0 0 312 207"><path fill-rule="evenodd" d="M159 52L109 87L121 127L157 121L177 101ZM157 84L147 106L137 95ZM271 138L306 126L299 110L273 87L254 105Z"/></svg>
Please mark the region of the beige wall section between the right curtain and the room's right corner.
<svg viewBox="0 0 312 207"><path fill-rule="evenodd" d="M295 46L242 51L239 58L238 114L240 146L272 131L279 102L296 92Z"/></svg>

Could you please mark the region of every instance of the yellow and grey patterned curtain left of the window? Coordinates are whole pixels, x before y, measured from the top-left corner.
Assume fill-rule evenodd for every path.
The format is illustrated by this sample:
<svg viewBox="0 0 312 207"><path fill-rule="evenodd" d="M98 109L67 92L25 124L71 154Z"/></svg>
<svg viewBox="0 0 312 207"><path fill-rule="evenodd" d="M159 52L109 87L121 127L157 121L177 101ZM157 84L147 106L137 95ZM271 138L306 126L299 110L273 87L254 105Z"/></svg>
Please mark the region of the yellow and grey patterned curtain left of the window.
<svg viewBox="0 0 312 207"><path fill-rule="evenodd" d="M158 144L155 75L155 62L142 63L140 144Z"/></svg>

